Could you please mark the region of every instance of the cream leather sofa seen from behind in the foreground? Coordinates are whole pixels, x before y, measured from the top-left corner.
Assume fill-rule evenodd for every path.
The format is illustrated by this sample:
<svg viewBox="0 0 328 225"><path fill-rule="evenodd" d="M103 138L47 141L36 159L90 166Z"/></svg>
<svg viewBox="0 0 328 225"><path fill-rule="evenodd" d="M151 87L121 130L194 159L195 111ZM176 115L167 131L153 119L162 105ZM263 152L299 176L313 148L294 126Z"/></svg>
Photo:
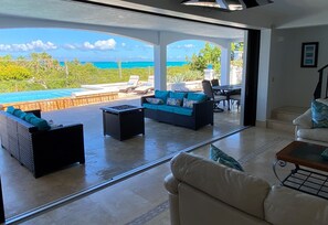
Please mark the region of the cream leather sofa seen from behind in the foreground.
<svg viewBox="0 0 328 225"><path fill-rule="evenodd" d="M324 225L328 201L189 153L171 160L165 180L172 225Z"/></svg>

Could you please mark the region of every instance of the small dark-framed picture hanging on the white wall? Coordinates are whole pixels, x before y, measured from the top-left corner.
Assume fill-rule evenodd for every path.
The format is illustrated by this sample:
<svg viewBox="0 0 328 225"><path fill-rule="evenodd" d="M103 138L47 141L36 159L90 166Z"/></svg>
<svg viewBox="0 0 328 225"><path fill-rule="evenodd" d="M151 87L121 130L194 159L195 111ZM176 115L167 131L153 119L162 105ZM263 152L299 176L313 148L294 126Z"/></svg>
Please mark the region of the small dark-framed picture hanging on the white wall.
<svg viewBox="0 0 328 225"><path fill-rule="evenodd" d="M301 43L300 67L317 67L319 42Z"/></svg>

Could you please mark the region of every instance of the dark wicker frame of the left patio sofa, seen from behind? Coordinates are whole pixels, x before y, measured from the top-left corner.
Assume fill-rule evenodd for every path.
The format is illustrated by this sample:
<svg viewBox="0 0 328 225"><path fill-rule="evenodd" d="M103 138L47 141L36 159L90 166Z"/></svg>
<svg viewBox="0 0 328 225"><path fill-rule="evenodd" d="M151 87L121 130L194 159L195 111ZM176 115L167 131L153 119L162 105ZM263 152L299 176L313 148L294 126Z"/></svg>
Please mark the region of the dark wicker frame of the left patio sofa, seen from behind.
<svg viewBox="0 0 328 225"><path fill-rule="evenodd" d="M41 118L40 110L32 113ZM35 178L85 162L82 124L41 131L19 117L0 111L0 138L1 146Z"/></svg>

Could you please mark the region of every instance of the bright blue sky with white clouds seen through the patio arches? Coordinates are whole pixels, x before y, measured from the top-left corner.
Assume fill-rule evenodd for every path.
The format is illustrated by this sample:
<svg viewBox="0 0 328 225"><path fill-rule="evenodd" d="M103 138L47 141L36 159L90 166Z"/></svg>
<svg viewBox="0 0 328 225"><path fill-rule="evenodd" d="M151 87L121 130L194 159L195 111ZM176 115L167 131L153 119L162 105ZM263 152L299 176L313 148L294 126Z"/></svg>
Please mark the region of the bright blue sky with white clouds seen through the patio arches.
<svg viewBox="0 0 328 225"><path fill-rule="evenodd" d="M204 46L202 41L180 41L168 46L168 61L184 61ZM46 52L59 61L154 61L152 45L119 35L67 29L1 29L0 56L28 56Z"/></svg>

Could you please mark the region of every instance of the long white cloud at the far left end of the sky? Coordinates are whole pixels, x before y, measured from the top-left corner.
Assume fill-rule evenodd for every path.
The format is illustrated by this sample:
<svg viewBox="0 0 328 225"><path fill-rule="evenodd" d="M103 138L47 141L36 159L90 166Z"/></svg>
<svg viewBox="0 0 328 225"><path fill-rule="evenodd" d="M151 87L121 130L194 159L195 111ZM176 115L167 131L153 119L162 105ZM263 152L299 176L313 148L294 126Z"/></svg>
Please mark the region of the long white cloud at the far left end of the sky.
<svg viewBox="0 0 328 225"><path fill-rule="evenodd" d="M49 51L56 50L57 46L52 42L43 42L41 40L32 41L24 44L0 44L0 51L7 52L28 52L28 51Z"/></svg>

